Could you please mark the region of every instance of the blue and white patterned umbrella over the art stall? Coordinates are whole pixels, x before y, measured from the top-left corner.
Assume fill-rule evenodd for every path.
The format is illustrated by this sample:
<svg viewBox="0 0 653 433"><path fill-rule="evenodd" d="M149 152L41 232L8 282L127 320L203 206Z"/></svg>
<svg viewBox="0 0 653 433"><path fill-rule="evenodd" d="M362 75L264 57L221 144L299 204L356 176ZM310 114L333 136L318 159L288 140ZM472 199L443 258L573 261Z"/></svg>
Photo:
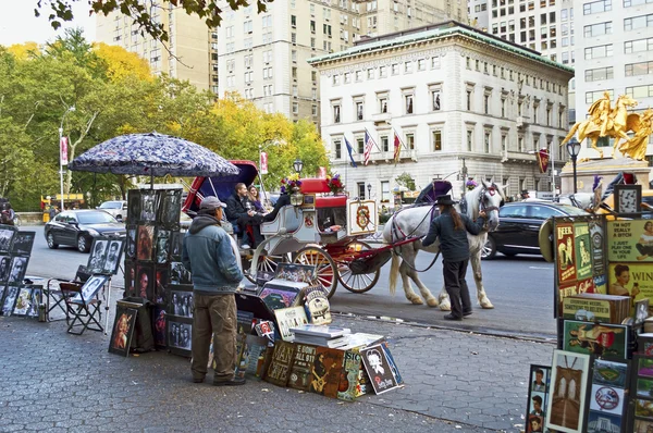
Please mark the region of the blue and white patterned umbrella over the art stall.
<svg viewBox="0 0 653 433"><path fill-rule="evenodd" d="M147 176L238 174L234 164L209 149L170 135L128 134L111 138L75 158L69 169Z"/></svg>

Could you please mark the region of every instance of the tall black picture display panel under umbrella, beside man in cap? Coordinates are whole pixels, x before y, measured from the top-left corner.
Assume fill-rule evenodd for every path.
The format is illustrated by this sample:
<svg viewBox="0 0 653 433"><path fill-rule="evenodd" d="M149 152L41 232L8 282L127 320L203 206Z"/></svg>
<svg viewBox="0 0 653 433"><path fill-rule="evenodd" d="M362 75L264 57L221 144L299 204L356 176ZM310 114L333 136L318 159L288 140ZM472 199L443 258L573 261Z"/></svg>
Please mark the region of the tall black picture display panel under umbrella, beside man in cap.
<svg viewBox="0 0 653 433"><path fill-rule="evenodd" d="M189 355L190 344L188 349L181 345L184 333L190 335L192 309L177 316L182 310L175 309L172 299L173 293L193 292L190 273L182 264L181 211L182 189L128 191L125 294L155 305L152 330L158 348Z"/></svg>

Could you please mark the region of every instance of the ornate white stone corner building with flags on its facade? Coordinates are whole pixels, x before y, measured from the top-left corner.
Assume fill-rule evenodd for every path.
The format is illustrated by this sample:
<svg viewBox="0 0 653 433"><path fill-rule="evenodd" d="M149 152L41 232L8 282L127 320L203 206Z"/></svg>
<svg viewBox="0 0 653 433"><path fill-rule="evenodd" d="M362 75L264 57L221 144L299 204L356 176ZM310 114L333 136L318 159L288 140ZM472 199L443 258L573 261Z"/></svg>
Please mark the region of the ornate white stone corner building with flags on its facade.
<svg viewBox="0 0 653 433"><path fill-rule="evenodd" d="M390 200L395 178L408 173L418 188L448 176L459 197L464 166L477 181L508 184L509 195L552 190L551 171L540 173L533 153L547 148L562 166L568 66L457 22L380 36L309 63L320 73L326 151L349 194L362 196L369 184L372 198ZM380 147L367 166L366 129ZM394 132L404 145L397 164Z"/></svg>

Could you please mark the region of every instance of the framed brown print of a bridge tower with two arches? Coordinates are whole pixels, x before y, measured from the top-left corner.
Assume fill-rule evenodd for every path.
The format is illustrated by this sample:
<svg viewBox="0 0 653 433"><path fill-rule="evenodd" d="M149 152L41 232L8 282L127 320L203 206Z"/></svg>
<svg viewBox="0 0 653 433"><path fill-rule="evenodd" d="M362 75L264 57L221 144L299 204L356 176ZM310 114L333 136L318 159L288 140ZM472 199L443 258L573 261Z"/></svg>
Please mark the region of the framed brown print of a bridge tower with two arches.
<svg viewBox="0 0 653 433"><path fill-rule="evenodd" d="M581 433L584 423L586 393L590 370L589 355L553 351L551 394L546 426L566 433Z"/></svg>

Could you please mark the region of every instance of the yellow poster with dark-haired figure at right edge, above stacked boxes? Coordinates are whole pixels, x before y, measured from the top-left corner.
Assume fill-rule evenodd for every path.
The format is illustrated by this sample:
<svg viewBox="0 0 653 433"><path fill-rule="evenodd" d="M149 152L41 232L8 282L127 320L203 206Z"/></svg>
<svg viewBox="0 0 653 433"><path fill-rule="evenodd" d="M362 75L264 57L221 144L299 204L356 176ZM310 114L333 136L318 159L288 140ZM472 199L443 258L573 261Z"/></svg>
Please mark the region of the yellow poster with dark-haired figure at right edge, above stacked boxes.
<svg viewBox="0 0 653 433"><path fill-rule="evenodd" d="M630 296L632 305L649 299L649 312L653 304L653 267L650 263L611 263L607 275L609 295Z"/></svg>

